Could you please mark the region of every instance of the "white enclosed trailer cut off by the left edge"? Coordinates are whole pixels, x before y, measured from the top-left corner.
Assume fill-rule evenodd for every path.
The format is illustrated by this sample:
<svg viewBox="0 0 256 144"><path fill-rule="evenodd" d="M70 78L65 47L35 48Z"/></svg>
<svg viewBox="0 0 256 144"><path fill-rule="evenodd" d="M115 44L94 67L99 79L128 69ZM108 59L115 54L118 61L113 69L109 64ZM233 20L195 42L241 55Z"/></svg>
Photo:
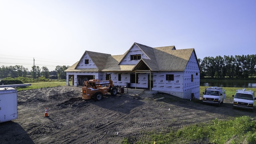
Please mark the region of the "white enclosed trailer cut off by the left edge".
<svg viewBox="0 0 256 144"><path fill-rule="evenodd" d="M15 88L0 88L0 122L18 118L17 90Z"/></svg>

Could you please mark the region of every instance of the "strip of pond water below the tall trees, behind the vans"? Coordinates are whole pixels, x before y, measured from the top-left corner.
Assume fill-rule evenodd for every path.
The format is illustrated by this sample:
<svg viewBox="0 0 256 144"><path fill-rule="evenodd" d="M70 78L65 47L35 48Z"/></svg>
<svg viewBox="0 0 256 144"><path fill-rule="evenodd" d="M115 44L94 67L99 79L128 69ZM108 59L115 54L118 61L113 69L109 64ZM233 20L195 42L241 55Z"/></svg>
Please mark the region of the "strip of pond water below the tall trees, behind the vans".
<svg viewBox="0 0 256 144"><path fill-rule="evenodd" d="M256 88L256 82L238 82L218 80L214 82L200 82L200 86L220 86L220 87L238 87L238 88Z"/></svg>

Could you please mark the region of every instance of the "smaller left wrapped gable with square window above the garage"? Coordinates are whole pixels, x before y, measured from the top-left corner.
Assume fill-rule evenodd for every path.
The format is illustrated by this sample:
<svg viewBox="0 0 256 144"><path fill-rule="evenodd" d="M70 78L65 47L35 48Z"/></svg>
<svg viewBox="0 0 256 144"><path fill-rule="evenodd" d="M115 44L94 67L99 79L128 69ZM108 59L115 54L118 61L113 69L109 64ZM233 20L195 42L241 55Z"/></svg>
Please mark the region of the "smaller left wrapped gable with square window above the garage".
<svg viewBox="0 0 256 144"><path fill-rule="evenodd" d="M84 53L76 68L97 68L87 52Z"/></svg>

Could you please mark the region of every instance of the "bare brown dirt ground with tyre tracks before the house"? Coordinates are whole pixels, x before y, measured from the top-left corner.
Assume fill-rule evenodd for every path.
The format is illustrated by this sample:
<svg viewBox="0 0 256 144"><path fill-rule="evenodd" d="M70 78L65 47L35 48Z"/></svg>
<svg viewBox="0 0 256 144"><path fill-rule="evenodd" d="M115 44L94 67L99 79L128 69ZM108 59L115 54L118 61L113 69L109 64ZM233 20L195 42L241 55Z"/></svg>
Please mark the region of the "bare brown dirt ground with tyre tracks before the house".
<svg viewBox="0 0 256 144"><path fill-rule="evenodd" d="M154 100L160 97L165 98ZM224 100L220 107L195 101L138 89L96 102L82 100L81 87L22 90L18 92L18 119L0 123L0 144L120 144L123 138L132 143L146 131L165 132L168 127L178 129L214 118L256 116L256 112L233 110L231 100ZM44 117L45 108L49 117Z"/></svg>

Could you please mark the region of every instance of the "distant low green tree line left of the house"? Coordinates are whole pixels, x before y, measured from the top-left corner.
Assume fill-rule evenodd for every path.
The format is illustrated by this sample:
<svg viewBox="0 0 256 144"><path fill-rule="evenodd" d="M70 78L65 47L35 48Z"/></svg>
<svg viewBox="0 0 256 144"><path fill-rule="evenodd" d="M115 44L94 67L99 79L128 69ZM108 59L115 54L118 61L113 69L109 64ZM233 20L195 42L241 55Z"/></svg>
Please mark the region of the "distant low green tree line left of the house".
<svg viewBox="0 0 256 144"><path fill-rule="evenodd" d="M1 66L0 67L0 77L2 78L16 78L16 77L32 77L38 78L44 76L45 78L52 79L66 79L66 72L64 72L70 66L56 66L54 71L49 71L46 66L40 68L39 66L32 66L32 69L29 71L28 68L24 66L15 65L15 66Z"/></svg>

